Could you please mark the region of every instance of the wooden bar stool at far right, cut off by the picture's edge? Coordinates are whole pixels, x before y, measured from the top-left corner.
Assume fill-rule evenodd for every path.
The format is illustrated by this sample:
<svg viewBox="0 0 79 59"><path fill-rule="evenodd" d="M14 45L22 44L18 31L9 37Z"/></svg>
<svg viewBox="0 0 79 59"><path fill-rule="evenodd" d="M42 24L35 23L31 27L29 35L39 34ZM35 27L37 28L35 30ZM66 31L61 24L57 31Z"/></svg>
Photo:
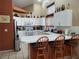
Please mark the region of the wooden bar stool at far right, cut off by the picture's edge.
<svg viewBox="0 0 79 59"><path fill-rule="evenodd" d="M70 47L71 47L71 58L72 58L73 54L77 55L77 52L75 50L75 44L77 43L76 40L79 40L79 34L73 35L71 40L74 41L74 42L71 42L72 44L70 45Z"/></svg>

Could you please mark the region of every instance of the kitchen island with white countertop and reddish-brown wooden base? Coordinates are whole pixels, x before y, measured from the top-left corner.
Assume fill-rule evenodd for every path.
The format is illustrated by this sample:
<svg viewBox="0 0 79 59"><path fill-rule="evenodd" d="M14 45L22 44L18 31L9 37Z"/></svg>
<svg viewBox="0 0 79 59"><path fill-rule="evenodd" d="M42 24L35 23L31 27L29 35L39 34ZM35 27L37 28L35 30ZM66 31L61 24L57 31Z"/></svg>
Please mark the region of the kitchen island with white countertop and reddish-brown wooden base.
<svg viewBox="0 0 79 59"><path fill-rule="evenodd" d="M55 39L60 36L61 34L56 33L50 33L48 34L44 33L43 35L34 35L34 36L22 36L20 37L20 40L22 42L28 43L28 49L29 49L29 59L36 59L36 53L37 53L37 47L36 42L37 40L42 36L47 36L49 38L49 59L54 59L54 49L53 49L53 43ZM71 53L71 47L68 46L66 43L71 41L71 36L65 35L65 45L64 45L64 56L69 56Z"/></svg>

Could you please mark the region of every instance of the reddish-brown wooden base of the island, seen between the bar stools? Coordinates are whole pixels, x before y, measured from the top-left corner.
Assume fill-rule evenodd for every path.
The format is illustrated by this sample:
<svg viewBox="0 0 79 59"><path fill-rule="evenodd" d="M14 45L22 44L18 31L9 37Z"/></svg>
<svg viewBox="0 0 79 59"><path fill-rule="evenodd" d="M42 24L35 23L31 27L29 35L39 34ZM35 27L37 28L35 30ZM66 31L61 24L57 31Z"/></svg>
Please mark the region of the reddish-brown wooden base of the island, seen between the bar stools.
<svg viewBox="0 0 79 59"><path fill-rule="evenodd" d="M54 59L54 47L53 42L49 42L49 59ZM30 59L36 59L37 55L37 47L36 43L29 44L29 58ZM64 45L64 56L70 56L71 48L70 46Z"/></svg>

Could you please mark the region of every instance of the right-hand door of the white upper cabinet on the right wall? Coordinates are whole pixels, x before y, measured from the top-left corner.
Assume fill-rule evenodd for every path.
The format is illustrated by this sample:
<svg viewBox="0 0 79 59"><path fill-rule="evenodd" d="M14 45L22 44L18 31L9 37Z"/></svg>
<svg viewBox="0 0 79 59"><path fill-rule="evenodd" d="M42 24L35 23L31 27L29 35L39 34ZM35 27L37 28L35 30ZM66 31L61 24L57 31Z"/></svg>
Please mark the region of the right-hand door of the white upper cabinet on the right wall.
<svg viewBox="0 0 79 59"><path fill-rule="evenodd" d="M61 14L61 26L72 26L72 11L64 11Z"/></svg>

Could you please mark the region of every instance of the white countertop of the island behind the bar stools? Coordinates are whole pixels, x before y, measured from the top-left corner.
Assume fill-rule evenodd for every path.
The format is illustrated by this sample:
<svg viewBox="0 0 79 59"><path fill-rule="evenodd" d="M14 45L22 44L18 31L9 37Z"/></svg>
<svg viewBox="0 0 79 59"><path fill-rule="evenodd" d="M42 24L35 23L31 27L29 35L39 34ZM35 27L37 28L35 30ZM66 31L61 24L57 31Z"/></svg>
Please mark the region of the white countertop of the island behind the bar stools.
<svg viewBox="0 0 79 59"><path fill-rule="evenodd" d="M49 35L34 35L34 36L22 36L20 37L20 41L25 42L25 43L35 43L37 40L42 37L42 36L47 36L49 38L49 41L54 41L58 36L61 34L56 34L56 33L50 33L50 32L45 32L48 33ZM71 36L66 36L65 35L65 40L70 39Z"/></svg>

